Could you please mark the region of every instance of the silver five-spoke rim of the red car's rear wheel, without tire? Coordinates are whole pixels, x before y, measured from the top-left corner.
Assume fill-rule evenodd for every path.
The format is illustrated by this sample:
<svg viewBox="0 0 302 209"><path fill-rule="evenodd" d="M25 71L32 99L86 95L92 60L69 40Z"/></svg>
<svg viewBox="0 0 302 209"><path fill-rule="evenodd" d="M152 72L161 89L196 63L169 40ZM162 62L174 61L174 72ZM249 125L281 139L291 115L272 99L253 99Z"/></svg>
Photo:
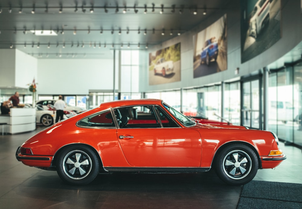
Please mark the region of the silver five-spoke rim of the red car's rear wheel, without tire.
<svg viewBox="0 0 302 209"><path fill-rule="evenodd" d="M88 154L81 150L73 150L63 159L64 173L71 179L83 179L92 169L92 160Z"/></svg>

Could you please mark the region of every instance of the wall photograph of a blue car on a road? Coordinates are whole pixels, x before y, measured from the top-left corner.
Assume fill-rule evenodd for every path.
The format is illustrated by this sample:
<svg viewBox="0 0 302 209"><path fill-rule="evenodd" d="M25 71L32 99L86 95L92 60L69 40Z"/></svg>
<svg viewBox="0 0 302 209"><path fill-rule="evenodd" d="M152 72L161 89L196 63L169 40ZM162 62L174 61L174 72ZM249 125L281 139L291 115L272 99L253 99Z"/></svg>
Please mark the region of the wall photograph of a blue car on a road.
<svg viewBox="0 0 302 209"><path fill-rule="evenodd" d="M227 69L226 14L193 35L193 78Z"/></svg>

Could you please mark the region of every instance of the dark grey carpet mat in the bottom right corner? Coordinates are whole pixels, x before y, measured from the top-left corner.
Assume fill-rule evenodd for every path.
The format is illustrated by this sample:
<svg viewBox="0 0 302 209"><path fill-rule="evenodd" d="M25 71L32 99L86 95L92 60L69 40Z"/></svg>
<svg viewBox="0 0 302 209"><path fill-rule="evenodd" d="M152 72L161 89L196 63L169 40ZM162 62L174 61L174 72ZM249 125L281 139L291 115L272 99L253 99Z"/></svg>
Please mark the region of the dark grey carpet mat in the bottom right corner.
<svg viewBox="0 0 302 209"><path fill-rule="evenodd" d="M302 208L302 184L251 181L243 185L237 209Z"/></svg>

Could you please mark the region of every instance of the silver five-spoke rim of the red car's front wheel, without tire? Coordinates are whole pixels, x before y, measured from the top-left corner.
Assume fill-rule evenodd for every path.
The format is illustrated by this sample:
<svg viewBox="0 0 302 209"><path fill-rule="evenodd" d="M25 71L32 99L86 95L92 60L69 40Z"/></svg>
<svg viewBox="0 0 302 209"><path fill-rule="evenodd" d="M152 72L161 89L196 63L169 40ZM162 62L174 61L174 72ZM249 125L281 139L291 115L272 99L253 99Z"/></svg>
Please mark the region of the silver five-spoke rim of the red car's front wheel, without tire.
<svg viewBox="0 0 302 209"><path fill-rule="evenodd" d="M243 179L252 169L250 156L242 150L232 150L223 159L223 171L231 179Z"/></svg>

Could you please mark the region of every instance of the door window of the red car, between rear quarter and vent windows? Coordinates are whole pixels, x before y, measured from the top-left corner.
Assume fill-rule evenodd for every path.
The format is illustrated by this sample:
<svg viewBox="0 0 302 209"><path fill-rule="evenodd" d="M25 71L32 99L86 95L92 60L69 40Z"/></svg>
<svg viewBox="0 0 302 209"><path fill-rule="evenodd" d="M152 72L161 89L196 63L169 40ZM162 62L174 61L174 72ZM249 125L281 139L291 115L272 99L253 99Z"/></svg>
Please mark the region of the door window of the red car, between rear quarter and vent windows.
<svg viewBox="0 0 302 209"><path fill-rule="evenodd" d="M114 110L120 128L160 128L153 106L130 106Z"/></svg>

